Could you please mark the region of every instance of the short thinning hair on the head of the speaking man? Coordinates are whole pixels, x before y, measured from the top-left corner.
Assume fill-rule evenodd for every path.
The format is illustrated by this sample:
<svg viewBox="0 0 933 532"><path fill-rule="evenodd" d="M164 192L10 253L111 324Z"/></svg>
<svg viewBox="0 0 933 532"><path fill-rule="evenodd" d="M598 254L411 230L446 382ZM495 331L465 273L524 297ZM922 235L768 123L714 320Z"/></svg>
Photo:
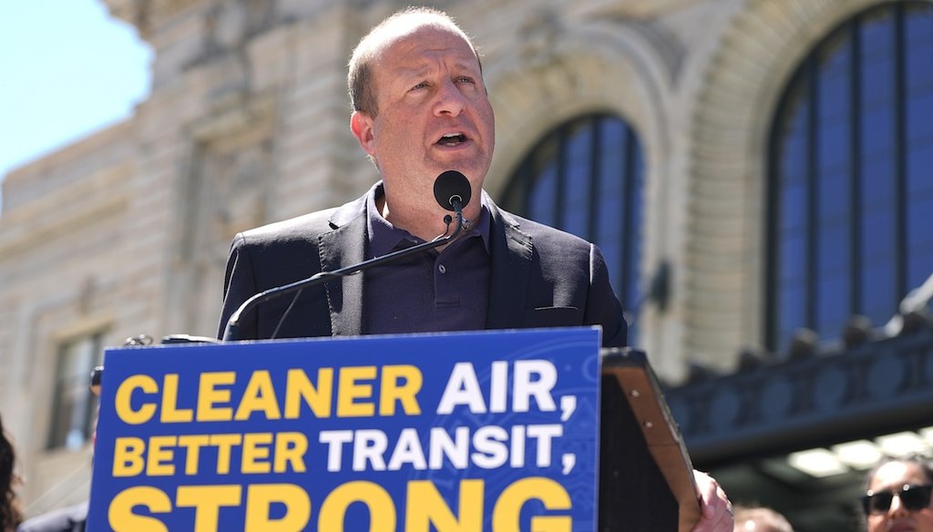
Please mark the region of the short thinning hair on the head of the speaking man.
<svg viewBox="0 0 933 532"><path fill-rule="evenodd" d="M473 41L447 13L432 7L409 7L397 11L372 28L353 51L347 73L347 88L350 91L350 105L354 111L362 111L370 117L379 114L376 91L373 87L373 63L378 60L382 50L398 38L411 35L425 26L445 29L463 37L473 49L479 63L480 55L473 46Z"/></svg>

